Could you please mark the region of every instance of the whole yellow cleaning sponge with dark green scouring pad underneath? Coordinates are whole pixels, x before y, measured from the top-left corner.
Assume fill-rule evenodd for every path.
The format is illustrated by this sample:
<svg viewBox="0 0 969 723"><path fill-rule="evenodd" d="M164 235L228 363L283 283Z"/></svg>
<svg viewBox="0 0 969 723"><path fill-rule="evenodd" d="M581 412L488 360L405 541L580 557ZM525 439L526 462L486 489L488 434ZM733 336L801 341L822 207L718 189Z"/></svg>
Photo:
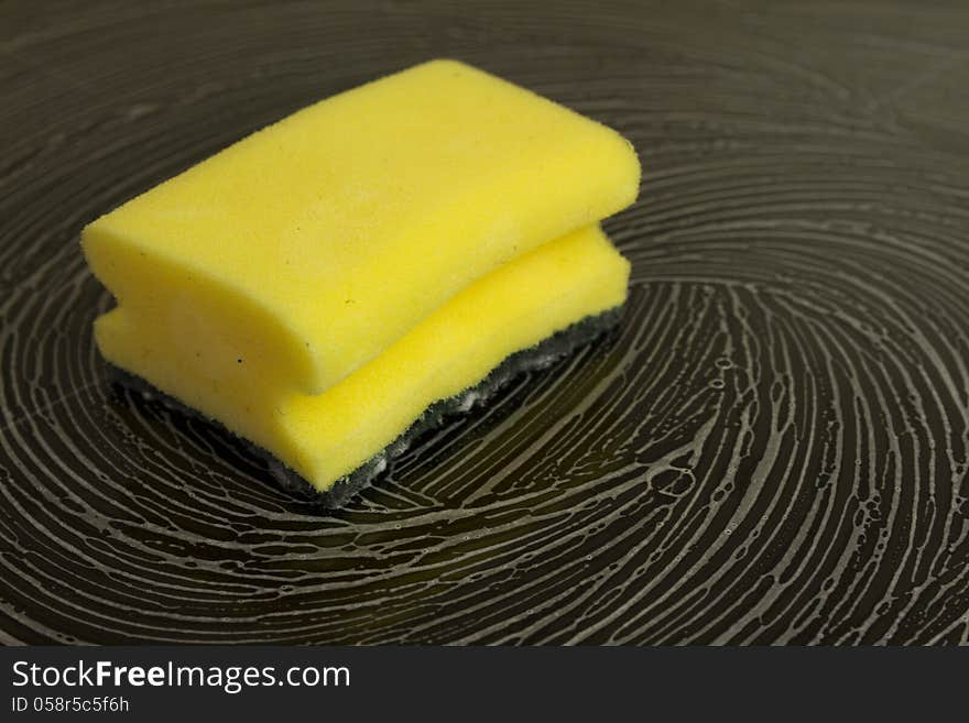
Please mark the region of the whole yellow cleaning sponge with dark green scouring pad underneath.
<svg viewBox="0 0 969 723"><path fill-rule="evenodd" d="M617 318L629 264L597 222L639 176L591 120L460 63L416 66L89 224L118 299L98 347L340 502L434 410Z"/></svg>

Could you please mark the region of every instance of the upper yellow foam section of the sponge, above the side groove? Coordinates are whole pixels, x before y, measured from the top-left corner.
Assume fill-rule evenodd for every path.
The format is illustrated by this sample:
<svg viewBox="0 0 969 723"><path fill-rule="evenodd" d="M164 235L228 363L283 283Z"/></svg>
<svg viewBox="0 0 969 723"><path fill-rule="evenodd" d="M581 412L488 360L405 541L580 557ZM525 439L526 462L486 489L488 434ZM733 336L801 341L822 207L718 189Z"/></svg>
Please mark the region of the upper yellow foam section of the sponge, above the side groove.
<svg viewBox="0 0 969 723"><path fill-rule="evenodd" d="M614 131L454 61L348 90L90 223L120 306L322 392L461 288L631 204ZM195 320L193 320L193 318Z"/></svg>

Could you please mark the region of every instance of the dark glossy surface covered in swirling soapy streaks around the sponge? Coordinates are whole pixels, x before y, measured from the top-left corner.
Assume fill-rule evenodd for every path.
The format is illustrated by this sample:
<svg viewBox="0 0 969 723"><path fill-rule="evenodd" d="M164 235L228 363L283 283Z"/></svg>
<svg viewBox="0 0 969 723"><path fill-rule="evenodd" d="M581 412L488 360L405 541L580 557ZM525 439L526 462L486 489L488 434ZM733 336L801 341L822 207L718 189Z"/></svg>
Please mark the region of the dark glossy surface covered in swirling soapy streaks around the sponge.
<svg viewBox="0 0 969 723"><path fill-rule="evenodd" d="M2 639L966 644L965 3L359 8L0 3ZM629 310L314 514L111 391L77 234L442 55L634 141Z"/></svg>

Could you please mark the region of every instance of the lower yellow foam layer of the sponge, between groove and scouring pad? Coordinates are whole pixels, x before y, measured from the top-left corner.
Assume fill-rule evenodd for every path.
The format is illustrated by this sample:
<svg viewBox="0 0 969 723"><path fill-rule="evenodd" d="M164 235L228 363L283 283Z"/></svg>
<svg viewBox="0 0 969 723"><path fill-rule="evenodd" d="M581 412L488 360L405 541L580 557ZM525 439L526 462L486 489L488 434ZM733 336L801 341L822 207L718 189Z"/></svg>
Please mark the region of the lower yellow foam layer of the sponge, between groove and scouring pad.
<svg viewBox="0 0 969 723"><path fill-rule="evenodd" d="M483 380L512 353L620 306L629 263L598 227L519 256L416 325L322 394L281 385L257 362L204 354L209 331L188 319L121 306L95 325L107 359L144 376L272 452L320 491L379 453L434 402Z"/></svg>

